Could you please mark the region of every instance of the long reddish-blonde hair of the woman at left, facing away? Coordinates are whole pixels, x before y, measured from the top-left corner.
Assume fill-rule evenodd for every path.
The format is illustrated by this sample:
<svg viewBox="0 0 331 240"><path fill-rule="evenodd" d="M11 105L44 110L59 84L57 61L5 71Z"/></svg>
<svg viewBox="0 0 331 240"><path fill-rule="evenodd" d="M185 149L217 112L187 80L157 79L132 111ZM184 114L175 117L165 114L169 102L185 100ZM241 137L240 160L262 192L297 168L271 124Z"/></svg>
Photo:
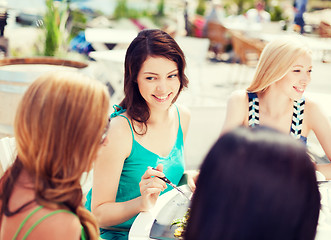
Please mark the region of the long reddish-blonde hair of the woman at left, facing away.
<svg viewBox="0 0 331 240"><path fill-rule="evenodd" d="M8 201L24 169L35 184L37 203L65 205L77 214L89 237L97 239L97 223L82 206L80 179L96 158L108 108L106 87L85 75L54 72L34 81L16 112L18 156L2 179L1 215L15 214Z"/></svg>

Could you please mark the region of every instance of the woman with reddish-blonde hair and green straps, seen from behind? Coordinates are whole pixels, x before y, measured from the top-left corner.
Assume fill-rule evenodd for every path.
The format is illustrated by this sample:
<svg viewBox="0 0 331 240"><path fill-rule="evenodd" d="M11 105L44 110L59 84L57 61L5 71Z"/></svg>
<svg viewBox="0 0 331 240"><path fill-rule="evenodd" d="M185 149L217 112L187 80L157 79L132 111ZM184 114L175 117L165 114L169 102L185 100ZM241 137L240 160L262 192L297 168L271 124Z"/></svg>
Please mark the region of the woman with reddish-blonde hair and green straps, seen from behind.
<svg viewBox="0 0 331 240"><path fill-rule="evenodd" d="M98 239L80 178L107 143L109 94L73 72L34 81L17 109L17 158L0 181L0 239Z"/></svg>

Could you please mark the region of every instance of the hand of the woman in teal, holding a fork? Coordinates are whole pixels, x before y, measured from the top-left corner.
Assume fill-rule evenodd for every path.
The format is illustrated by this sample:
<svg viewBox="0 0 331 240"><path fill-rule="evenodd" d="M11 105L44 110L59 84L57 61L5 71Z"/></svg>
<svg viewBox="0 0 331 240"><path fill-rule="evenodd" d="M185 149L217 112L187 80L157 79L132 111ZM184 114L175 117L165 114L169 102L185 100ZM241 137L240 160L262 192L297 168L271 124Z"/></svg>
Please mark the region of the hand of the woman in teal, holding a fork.
<svg viewBox="0 0 331 240"><path fill-rule="evenodd" d="M141 193L141 211L148 211L154 207L160 192L167 188L167 184L158 177L164 177L163 165L159 164L156 170L149 168L141 177L139 183Z"/></svg>

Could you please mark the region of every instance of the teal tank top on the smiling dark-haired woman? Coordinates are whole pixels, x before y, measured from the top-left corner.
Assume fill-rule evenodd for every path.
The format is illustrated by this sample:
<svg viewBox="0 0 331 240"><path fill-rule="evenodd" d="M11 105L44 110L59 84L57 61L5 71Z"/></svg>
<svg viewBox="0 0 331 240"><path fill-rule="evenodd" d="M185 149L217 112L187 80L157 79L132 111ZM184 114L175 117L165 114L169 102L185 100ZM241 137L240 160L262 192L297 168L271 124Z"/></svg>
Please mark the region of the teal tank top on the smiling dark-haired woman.
<svg viewBox="0 0 331 240"><path fill-rule="evenodd" d="M141 181L141 176L145 173L148 166L156 167L159 163L162 163L164 174L171 182L177 185L183 176L185 168L183 131L180 124L180 114L177 106L176 109L179 122L177 139L171 152L166 157L159 156L139 144L134 138L131 122L127 117L122 115L122 113L125 112L125 109L122 109L120 106L116 107L118 110L114 108L115 112L111 114L111 118L118 116L126 118L130 125L133 139L131 153L124 161L116 195L116 202L126 202L140 196L139 182ZM170 190L172 190L172 187L168 185L168 188L161 194L164 194ZM92 189L87 194L87 201L85 204L85 207L90 211L91 195ZM112 230L101 228L101 237L103 239L127 239L130 227L136 217L137 216L134 216L124 223L112 226Z"/></svg>

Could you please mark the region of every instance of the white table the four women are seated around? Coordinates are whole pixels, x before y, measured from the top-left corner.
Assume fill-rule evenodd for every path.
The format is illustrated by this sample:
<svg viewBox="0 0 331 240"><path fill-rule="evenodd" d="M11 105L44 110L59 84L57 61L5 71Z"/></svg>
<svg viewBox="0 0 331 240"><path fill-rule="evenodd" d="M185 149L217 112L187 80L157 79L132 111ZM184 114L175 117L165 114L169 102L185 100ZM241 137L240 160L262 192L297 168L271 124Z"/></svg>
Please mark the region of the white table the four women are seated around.
<svg viewBox="0 0 331 240"><path fill-rule="evenodd" d="M183 186L186 187L186 186ZM182 188L182 187L181 187ZM321 211L317 226L315 240L330 240L331 236L331 183L320 185ZM134 221L130 232L129 240L149 240L149 233L157 214L168 203L169 199L177 194L176 190L171 190L159 197L153 209L148 212L141 212ZM329 195L329 198L327 197Z"/></svg>

